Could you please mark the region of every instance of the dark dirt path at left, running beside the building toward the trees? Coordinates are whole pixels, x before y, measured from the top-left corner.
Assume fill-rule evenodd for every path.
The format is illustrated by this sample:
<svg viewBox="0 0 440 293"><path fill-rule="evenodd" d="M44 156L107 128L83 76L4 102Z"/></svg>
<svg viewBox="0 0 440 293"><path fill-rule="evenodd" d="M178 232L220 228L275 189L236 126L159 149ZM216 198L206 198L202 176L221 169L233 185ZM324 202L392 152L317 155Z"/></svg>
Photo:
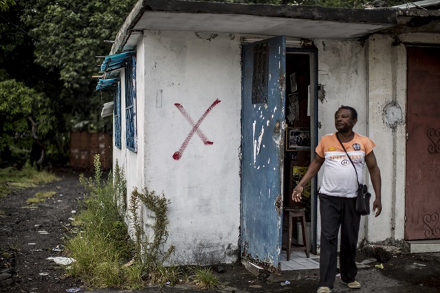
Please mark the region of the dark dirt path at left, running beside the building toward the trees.
<svg viewBox="0 0 440 293"><path fill-rule="evenodd" d="M1 292L66 292L80 285L47 260L63 256L53 249L62 250L72 210L78 210L78 199L85 192L78 173L57 175L58 182L14 191L0 199ZM38 208L29 208L27 199L40 191L54 191L55 195L36 204Z"/></svg>

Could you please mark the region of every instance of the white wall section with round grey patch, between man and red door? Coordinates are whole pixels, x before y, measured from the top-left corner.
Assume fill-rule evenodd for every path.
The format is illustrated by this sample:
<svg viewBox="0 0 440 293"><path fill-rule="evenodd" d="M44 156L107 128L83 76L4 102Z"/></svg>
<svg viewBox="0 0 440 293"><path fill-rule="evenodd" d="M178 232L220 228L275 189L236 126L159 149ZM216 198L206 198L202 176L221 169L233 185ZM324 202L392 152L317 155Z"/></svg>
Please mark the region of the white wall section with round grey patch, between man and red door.
<svg viewBox="0 0 440 293"><path fill-rule="evenodd" d="M401 41L395 42L395 41ZM369 216L366 237L404 239L406 196L406 45L439 44L439 34L369 38L369 136L382 173L382 215ZM373 188L370 186L370 188Z"/></svg>

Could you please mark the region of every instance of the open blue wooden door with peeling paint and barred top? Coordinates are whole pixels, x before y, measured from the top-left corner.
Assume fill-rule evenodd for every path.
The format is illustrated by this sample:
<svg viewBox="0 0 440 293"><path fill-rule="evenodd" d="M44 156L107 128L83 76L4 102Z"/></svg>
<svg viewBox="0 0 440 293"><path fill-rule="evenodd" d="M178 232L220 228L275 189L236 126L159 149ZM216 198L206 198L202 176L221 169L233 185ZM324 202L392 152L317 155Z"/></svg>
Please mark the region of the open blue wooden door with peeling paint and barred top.
<svg viewBox="0 0 440 293"><path fill-rule="evenodd" d="M281 269L285 36L243 45L241 255Z"/></svg>

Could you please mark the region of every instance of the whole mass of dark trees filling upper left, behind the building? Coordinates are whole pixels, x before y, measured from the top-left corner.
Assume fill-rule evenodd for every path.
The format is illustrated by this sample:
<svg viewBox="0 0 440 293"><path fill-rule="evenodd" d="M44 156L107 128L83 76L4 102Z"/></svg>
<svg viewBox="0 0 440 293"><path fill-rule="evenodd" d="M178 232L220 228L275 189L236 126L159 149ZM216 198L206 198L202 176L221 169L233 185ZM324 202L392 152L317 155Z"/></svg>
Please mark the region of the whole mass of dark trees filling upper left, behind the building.
<svg viewBox="0 0 440 293"><path fill-rule="evenodd" d="M104 123L100 118L102 102L111 97L96 92L97 80L91 75L98 72L97 65L102 62L95 56L110 50L103 40L115 38L135 0L23 0L12 6L13 3L0 0L0 104L4 106L10 99L18 98L10 96L13 91L23 94L24 100L38 96L39 105L47 111L36 104L32 104L32 109L50 113L50 119L44 121L56 123L45 128L43 122L38 124L38 117L29 116L28 108L17 107L15 114L8 116L8 123L21 128L7 137L1 134L3 142L8 140L8 146L0 150L0 162L17 152L23 153L23 160L29 158L28 146L32 141L32 149L41 148L32 140L32 133L23 132L26 123L28 130L32 130L32 121L34 126L38 125L36 137L46 154L53 161L65 162L70 131L111 129L111 120ZM5 119L2 114L0 122ZM41 132L42 129L45 131Z"/></svg>

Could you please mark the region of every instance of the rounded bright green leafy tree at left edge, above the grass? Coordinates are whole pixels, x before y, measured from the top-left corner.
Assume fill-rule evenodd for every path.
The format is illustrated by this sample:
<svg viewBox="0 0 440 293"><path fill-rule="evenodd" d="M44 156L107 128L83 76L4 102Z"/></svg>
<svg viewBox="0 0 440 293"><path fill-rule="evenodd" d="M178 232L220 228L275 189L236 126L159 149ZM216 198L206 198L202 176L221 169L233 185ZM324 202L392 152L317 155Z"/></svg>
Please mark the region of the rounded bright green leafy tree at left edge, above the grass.
<svg viewBox="0 0 440 293"><path fill-rule="evenodd" d="M30 156L32 144L35 162L42 164L45 154L43 138L52 129L54 118L47 98L14 79L0 82L0 154L9 162L23 164ZM11 160L12 159L12 160Z"/></svg>

